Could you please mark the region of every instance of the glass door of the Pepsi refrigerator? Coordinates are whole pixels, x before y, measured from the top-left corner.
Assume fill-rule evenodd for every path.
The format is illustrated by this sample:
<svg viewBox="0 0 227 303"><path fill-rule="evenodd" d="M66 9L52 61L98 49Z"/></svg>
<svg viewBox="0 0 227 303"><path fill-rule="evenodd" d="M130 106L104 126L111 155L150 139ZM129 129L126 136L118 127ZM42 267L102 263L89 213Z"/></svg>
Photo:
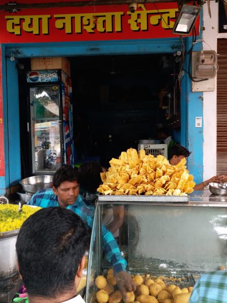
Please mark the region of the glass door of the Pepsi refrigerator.
<svg viewBox="0 0 227 303"><path fill-rule="evenodd" d="M59 85L30 87L33 174L53 174L61 166Z"/></svg>

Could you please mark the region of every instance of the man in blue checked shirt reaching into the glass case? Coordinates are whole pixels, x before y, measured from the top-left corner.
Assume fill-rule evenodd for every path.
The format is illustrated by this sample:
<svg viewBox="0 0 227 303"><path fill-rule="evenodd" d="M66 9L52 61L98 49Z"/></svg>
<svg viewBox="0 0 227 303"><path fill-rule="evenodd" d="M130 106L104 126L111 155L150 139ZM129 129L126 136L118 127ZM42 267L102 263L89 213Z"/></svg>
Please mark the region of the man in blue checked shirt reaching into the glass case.
<svg viewBox="0 0 227 303"><path fill-rule="evenodd" d="M79 194L77 171L69 165L63 165L53 176L53 188L38 190L28 202L41 208L63 207L77 214L91 229L95 208L87 204ZM136 286L131 276L126 272L126 261L121 256L117 242L111 232L102 226L102 248L107 260L111 263L116 275L116 281L123 295L134 291ZM127 300L127 297L126 297Z"/></svg>

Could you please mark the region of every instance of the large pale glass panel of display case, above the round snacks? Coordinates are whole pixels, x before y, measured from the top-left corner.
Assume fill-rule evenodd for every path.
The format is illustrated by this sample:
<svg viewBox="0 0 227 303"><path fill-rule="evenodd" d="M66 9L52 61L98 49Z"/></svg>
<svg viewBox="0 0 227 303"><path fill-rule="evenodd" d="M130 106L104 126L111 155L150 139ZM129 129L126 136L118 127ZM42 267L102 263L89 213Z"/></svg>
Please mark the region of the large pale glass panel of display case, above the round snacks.
<svg viewBox="0 0 227 303"><path fill-rule="evenodd" d="M225 208L128 206L130 270L201 273L226 266Z"/></svg>

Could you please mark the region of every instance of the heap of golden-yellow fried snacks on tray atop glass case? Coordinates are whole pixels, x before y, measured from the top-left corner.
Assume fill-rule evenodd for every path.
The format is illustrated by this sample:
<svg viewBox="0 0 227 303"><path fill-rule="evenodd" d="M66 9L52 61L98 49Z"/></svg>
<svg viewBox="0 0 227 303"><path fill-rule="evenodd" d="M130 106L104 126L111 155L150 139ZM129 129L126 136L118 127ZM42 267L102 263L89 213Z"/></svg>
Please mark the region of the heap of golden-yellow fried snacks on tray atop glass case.
<svg viewBox="0 0 227 303"><path fill-rule="evenodd" d="M109 195L187 195L195 182L186 169L186 159L171 165L162 155L145 155L141 149L122 151L119 159L109 161L110 168L101 173L97 191Z"/></svg>

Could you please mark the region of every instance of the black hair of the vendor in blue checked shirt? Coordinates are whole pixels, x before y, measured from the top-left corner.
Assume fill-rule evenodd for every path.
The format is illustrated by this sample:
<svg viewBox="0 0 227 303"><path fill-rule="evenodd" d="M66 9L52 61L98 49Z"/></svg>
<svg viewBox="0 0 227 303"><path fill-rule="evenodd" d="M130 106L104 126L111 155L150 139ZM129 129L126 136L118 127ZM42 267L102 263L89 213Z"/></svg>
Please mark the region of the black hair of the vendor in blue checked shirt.
<svg viewBox="0 0 227 303"><path fill-rule="evenodd" d="M64 181L78 181L78 172L70 165L62 165L53 175L53 186L58 188Z"/></svg>

